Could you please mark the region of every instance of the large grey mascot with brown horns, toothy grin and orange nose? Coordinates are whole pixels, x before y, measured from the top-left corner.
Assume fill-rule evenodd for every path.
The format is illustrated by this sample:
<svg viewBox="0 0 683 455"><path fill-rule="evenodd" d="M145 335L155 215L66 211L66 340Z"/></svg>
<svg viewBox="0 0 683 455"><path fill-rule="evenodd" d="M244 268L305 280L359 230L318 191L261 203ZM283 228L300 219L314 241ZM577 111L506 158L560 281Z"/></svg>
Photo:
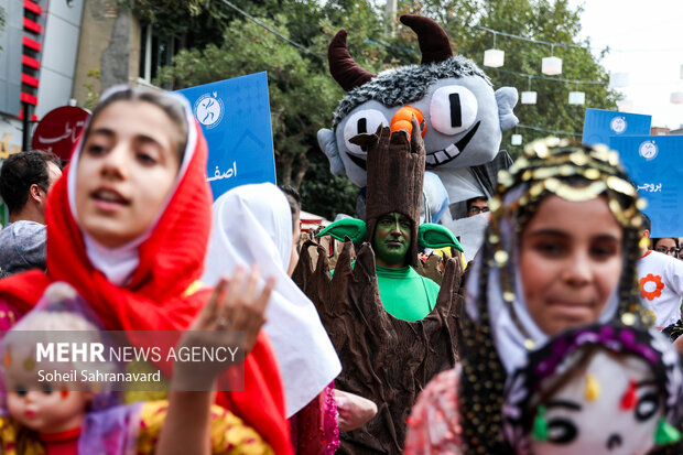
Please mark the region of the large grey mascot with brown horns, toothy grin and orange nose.
<svg viewBox="0 0 683 455"><path fill-rule="evenodd" d="M410 105L426 127L425 160L431 172L424 177L422 220L437 223L448 204L454 218L459 218L465 215L465 201L490 197L498 170L511 164L499 147L502 131L518 123L512 113L517 89L494 91L488 76L473 61L453 55L448 36L433 20L402 15L401 22L418 34L422 63L377 76L354 62L346 30L335 35L328 52L329 72L347 95L334 112L333 129L318 131L318 143L332 173L346 173L364 188L369 180L367 151L351 138L371 133L380 124L397 124L395 130L403 121L405 128L411 113L403 108ZM362 206L360 197L360 217L365 216Z"/></svg>

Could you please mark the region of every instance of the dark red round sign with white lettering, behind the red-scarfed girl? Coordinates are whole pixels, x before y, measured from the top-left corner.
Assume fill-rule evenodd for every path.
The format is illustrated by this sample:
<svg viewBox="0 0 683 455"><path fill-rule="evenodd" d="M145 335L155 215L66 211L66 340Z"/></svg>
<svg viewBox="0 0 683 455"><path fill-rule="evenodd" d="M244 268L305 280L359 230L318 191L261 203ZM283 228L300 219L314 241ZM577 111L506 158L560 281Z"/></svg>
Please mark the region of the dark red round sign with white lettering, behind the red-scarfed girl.
<svg viewBox="0 0 683 455"><path fill-rule="evenodd" d="M51 110L37 123L31 148L48 150L62 160L68 160L89 117L86 109L73 106Z"/></svg>

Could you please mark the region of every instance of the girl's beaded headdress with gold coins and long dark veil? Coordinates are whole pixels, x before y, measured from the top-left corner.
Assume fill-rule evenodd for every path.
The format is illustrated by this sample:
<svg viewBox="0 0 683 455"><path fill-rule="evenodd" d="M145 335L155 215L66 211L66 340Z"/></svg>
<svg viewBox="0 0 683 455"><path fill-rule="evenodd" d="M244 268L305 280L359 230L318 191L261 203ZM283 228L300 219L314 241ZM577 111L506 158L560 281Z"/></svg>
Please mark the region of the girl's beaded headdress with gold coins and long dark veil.
<svg viewBox="0 0 683 455"><path fill-rule="evenodd" d="M555 138L531 143L522 158L498 174L498 187L489 201L490 224L467 283L458 403L470 454L506 452L500 438L501 407L506 378L514 359L501 358L497 344L502 335L496 333L495 325L503 316L509 318L507 328L514 332L523 346L516 353L519 356L533 349L539 338L546 337L534 336L520 322L525 303L519 295L514 262L521 231L548 195L571 202L606 197L610 212L624 228L624 263L618 292L610 296L599 322L617 321L627 326L649 324L641 316L636 285L640 209L644 204L619 165L618 154L601 145L573 144ZM494 323L490 307L496 312Z"/></svg>

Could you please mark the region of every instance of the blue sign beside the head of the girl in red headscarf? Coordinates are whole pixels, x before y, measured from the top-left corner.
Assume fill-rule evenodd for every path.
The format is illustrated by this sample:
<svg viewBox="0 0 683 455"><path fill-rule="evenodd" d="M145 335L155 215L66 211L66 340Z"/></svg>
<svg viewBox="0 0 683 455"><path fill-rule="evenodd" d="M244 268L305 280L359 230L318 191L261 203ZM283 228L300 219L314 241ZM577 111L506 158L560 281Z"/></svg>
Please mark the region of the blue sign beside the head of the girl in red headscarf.
<svg viewBox="0 0 683 455"><path fill-rule="evenodd" d="M277 183L265 73L178 93L189 100L208 144L206 173L214 201L239 185Z"/></svg>

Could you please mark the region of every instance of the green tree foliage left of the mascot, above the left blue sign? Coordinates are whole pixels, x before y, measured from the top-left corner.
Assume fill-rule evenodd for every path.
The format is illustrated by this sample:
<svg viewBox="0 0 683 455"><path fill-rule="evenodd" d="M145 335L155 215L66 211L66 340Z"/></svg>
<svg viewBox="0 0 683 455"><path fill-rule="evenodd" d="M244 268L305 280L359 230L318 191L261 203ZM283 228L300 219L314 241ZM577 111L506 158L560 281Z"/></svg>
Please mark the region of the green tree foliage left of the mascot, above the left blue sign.
<svg viewBox="0 0 683 455"><path fill-rule="evenodd" d="M214 2L219 3L219 2ZM345 4L328 2L324 7L305 1L272 1L239 6L274 32L302 44L302 51L260 24L239 19L225 24L219 39L180 52L173 65L162 69L159 83L173 89L207 84L256 72L268 72L271 121L278 180L302 192L305 209L326 217L337 213L355 213L358 193L348 178L335 177L317 145L316 132L329 126L332 112L344 91L327 72L327 45L332 35L342 26L373 30L371 37L382 33L382 17L365 1ZM286 3L283 4L283 3ZM353 4L351 4L353 3ZM181 6L176 6L180 10ZM213 7L212 7L213 8ZM349 14L344 15L345 9ZM278 13L274 13L279 11ZM197 18L206 9L195 11ZM234 10L232 10L234 12ZM143 11L149 21L167 17L160 2L150 3ZM185 15L191 11L186 10ZM178 11L174 14L181 14ZM225 11L221 14L226 14ZM265 17L271 14L270 19ZM182 14L181 14L182 15ZM344 21L342 20L344 19ZM167 32L183 33L182 29ZM365 43L368 36L359 34L349 40L354 52L365 55L359 61L371 69L380 69L384 55L382 47ZM196 39L189 41L197 42ZM305 176L305 178L304 178ZM334 204L330 205L330 202Z"/></svg>

